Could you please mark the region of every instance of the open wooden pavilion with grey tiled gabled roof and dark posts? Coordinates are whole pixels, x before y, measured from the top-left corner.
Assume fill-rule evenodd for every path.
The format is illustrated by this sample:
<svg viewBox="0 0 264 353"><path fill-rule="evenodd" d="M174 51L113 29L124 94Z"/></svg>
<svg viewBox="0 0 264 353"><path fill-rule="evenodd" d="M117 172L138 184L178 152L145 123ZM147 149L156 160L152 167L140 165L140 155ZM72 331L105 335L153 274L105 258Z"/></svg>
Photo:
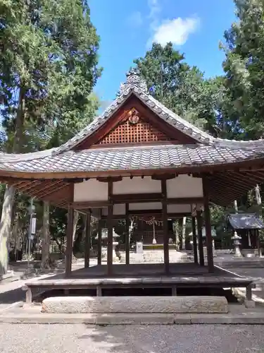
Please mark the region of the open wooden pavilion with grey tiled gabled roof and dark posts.
<svg viewBox="0 0 264 353"><path fill-rule="evenodd" d="M71 275L74 210L87 214L85 266L89 266L90 215L107 220L107 273L113 275L113 220L125 220L130 263L130 218L158 220L165 273L170 273L168 219L192 217L194 261L215 270L210 203L230 205L264 181L264 140L213 138L154 99L132 69L118 97L101 116L59 148L0 154L0 179L20 192L68 209L66 276ZM152 225L153 227L153 225ZM149 234L149 237L153 237ZM99 264L101 251L99 249Z"/></svg>

